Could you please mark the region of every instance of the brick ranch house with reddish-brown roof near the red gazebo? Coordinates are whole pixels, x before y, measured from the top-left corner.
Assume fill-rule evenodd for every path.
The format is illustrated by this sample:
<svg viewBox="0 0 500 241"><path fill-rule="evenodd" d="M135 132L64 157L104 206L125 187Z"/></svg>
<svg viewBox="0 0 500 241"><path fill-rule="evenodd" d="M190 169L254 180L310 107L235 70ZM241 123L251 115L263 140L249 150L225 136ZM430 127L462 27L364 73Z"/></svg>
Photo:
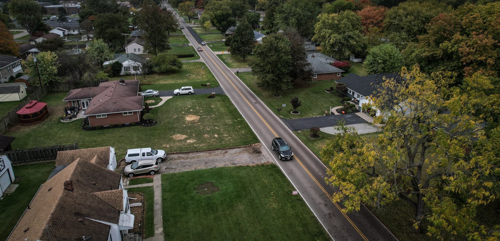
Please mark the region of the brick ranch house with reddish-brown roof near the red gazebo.
<svg viewBox="0 0 500 241"><path fill-rule="evenodd" d="M83 110L90 126L127 124L140 121L144 97L138 89L139 80L114 80L72 89L62 101Z"/></svg>

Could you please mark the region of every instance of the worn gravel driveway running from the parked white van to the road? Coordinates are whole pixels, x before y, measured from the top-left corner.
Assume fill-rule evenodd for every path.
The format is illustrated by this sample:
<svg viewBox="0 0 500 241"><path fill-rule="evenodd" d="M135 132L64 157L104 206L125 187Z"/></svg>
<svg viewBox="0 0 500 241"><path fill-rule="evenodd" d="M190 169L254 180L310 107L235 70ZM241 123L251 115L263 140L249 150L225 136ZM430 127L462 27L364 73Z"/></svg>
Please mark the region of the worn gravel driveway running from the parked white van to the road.
<svg viewBox="0 0 500 241"><path fill-rule="evenodd" d="M210 151L167 154L166 158L166 161L160 164L159 173L272 162L271 157L262 149L260 143Z"/></svg>

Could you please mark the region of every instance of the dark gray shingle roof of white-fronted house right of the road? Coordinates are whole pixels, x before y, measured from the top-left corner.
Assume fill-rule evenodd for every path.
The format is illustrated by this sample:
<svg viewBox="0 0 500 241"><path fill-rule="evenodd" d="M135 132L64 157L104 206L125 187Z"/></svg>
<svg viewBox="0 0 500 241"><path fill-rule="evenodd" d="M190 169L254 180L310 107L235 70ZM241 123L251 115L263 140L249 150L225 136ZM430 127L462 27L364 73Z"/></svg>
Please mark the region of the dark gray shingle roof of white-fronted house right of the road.
<svg viewBox="0 0 500 241"><path fill-rule="evenodd" d="M383 78L401 79L397 73L372 74L367 76L358 76L356 74L348 74L336 82L345 83L347 88L359 93L363 96L369 96L377 92L379 85L383 83Z"/></svg>

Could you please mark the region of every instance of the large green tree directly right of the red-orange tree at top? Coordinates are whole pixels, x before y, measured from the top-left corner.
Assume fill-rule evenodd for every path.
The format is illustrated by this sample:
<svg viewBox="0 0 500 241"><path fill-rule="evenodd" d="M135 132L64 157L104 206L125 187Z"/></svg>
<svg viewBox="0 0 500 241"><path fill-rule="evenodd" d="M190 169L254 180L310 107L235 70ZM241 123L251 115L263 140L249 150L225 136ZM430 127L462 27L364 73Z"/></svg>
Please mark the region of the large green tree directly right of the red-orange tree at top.
<svg viewBox="0 0 500 241"><path fill-rule="evenodd" d="M426 33L425 25L446 5L437 1L405 1L385 12L384 30L390 42L403 48L408 42L416 42L418 35Z"/></svg>

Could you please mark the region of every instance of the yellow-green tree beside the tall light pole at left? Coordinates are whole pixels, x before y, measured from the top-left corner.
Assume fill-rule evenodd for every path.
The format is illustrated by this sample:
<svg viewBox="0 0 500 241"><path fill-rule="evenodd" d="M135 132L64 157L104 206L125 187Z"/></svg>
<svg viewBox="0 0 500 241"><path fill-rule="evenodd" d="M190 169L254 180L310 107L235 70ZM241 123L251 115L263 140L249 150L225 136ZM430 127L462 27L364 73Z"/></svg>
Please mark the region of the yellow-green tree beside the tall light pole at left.
<svg viewBox="0 0 500 241"><path fill-rule="evenodd" d="M47 51L38 53L36 55L36 62L38 63L38 73L40 74L40 80L43 86L50 86L60 82L60 78L57 76L59 62L54 52ZM32 55L29 55L26 60L22 60L21 65L25 74L37 76L36 63ZM38 81L34 81L32 84L38 85L39 83Z"/></svg>

